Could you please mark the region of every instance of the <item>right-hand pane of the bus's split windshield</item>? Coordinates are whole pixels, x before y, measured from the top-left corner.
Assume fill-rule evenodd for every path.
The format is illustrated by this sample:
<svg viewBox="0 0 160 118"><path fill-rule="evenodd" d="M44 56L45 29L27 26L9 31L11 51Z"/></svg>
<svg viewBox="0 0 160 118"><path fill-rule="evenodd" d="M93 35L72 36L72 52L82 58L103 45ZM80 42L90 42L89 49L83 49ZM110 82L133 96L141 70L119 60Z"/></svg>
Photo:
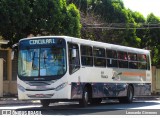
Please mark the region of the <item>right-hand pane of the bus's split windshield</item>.
<svg viewBox="0 0 160 118"><path fill-rule="evenodd" d="M63 48L41 48L40 76L62 75L66 71L65 62L65 51ZM36 65L34 69L37 69Z"/></svg>

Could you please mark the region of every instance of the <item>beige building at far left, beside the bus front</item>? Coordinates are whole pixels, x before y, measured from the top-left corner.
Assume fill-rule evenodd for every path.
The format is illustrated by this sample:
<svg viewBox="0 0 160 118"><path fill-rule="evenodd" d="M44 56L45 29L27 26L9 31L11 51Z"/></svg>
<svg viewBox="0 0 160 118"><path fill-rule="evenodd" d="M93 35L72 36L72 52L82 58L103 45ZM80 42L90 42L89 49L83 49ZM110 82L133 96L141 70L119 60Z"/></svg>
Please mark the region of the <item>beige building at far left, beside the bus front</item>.
<svg viewBox="0 0 160 118"><path fill-rule="evenodd" d="M0 58L3 60L3 95L17 94L17 55L15 54L14 60L11 60L11 48L2 48L2 45L8 44L9 41L1 40L0 38ZM1 66L1 65L0 65Z"/></svg>

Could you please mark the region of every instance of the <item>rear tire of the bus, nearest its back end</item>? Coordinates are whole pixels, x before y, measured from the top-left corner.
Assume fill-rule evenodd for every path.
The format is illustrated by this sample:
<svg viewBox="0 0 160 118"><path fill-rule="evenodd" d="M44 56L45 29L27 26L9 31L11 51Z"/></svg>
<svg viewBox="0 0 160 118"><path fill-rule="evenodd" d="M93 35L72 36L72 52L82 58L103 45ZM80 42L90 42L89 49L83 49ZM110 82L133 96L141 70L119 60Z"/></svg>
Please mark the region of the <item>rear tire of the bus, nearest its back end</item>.
<svg viewBox="0 0 160 118"><path fill-rule="evenodd" d="M133 87L129 85L127 89L127 96L119 98L119 102L120 103L132 103L133 96L134 96Z"/></svg>

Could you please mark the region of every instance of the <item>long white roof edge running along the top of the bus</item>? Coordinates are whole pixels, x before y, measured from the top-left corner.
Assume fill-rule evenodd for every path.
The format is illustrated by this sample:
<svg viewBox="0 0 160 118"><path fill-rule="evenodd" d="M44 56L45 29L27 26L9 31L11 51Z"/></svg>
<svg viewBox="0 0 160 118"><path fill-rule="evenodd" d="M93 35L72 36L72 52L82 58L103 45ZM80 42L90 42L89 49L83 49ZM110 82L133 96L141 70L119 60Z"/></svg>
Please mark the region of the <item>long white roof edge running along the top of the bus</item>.
<svg viewBox="0 0 160 118"><path fill-rule="evenodd" d="M89 45L89 46L95 46L95 47L100 47L100 48L106 48L106 49L111 49L111 50L119 50L119 51L126 51L126 52L132 52L132 53L140 53L140 54L149 54L150 53L149 50L145 50L145 49L103 43L103 42L98 42L98 41L92 41L90 39L81 39L81 38L75 38L75 37L70 37L70 36L39 36L39 37L23 38L20 41L30 40L30 39L38 39L38 38L64 38L66 41L69 41L69 42L83 44L83 45Z"/></svg>

